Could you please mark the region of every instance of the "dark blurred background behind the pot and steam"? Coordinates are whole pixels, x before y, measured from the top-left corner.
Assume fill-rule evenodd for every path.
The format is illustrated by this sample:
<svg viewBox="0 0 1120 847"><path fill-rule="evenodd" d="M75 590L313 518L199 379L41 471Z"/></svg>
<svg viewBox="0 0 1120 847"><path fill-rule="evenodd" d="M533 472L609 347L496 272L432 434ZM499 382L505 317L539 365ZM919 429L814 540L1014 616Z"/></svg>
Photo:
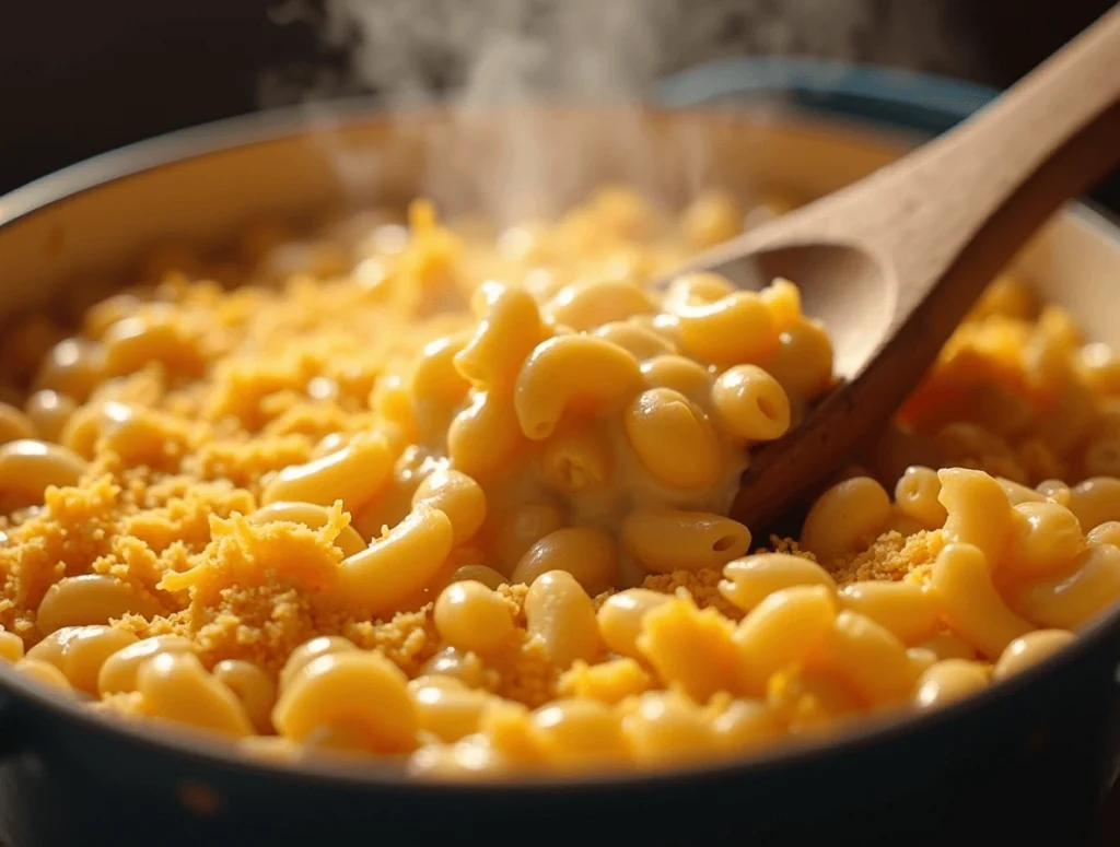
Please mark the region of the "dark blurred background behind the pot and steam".
<svg viewBox="0 0 1120 847"><path fill-rule="evenodd" d="M283 0L289 12L296 8L291 1ZM0 194L130 141L253 111L262 92L274 102L274 92L267 95L269 79L283 79L297 96L312 83L330 94L361 91L364 86L348 78L345 46L326 44L318 31L318 2L306 0L297 22L278 26L281 0L0 0ZM411 2L423 8L429 0ZM849 6L881 26L833 44L824 31L828 21L810 20L799 22L800 38L775 44L759 20L804 1L691 2L719 4L719 26L707 44L671 57L666 72L729 54L818 51L996 86L1012 83L1112 6L1111 0L832 0L833 8ZM952 44L935 51L905 46L922 44L930 8L950 21L952 38L942 40ZM454 62L438 51L431 56L433 85L454 78L448 67Z"/></svg>

